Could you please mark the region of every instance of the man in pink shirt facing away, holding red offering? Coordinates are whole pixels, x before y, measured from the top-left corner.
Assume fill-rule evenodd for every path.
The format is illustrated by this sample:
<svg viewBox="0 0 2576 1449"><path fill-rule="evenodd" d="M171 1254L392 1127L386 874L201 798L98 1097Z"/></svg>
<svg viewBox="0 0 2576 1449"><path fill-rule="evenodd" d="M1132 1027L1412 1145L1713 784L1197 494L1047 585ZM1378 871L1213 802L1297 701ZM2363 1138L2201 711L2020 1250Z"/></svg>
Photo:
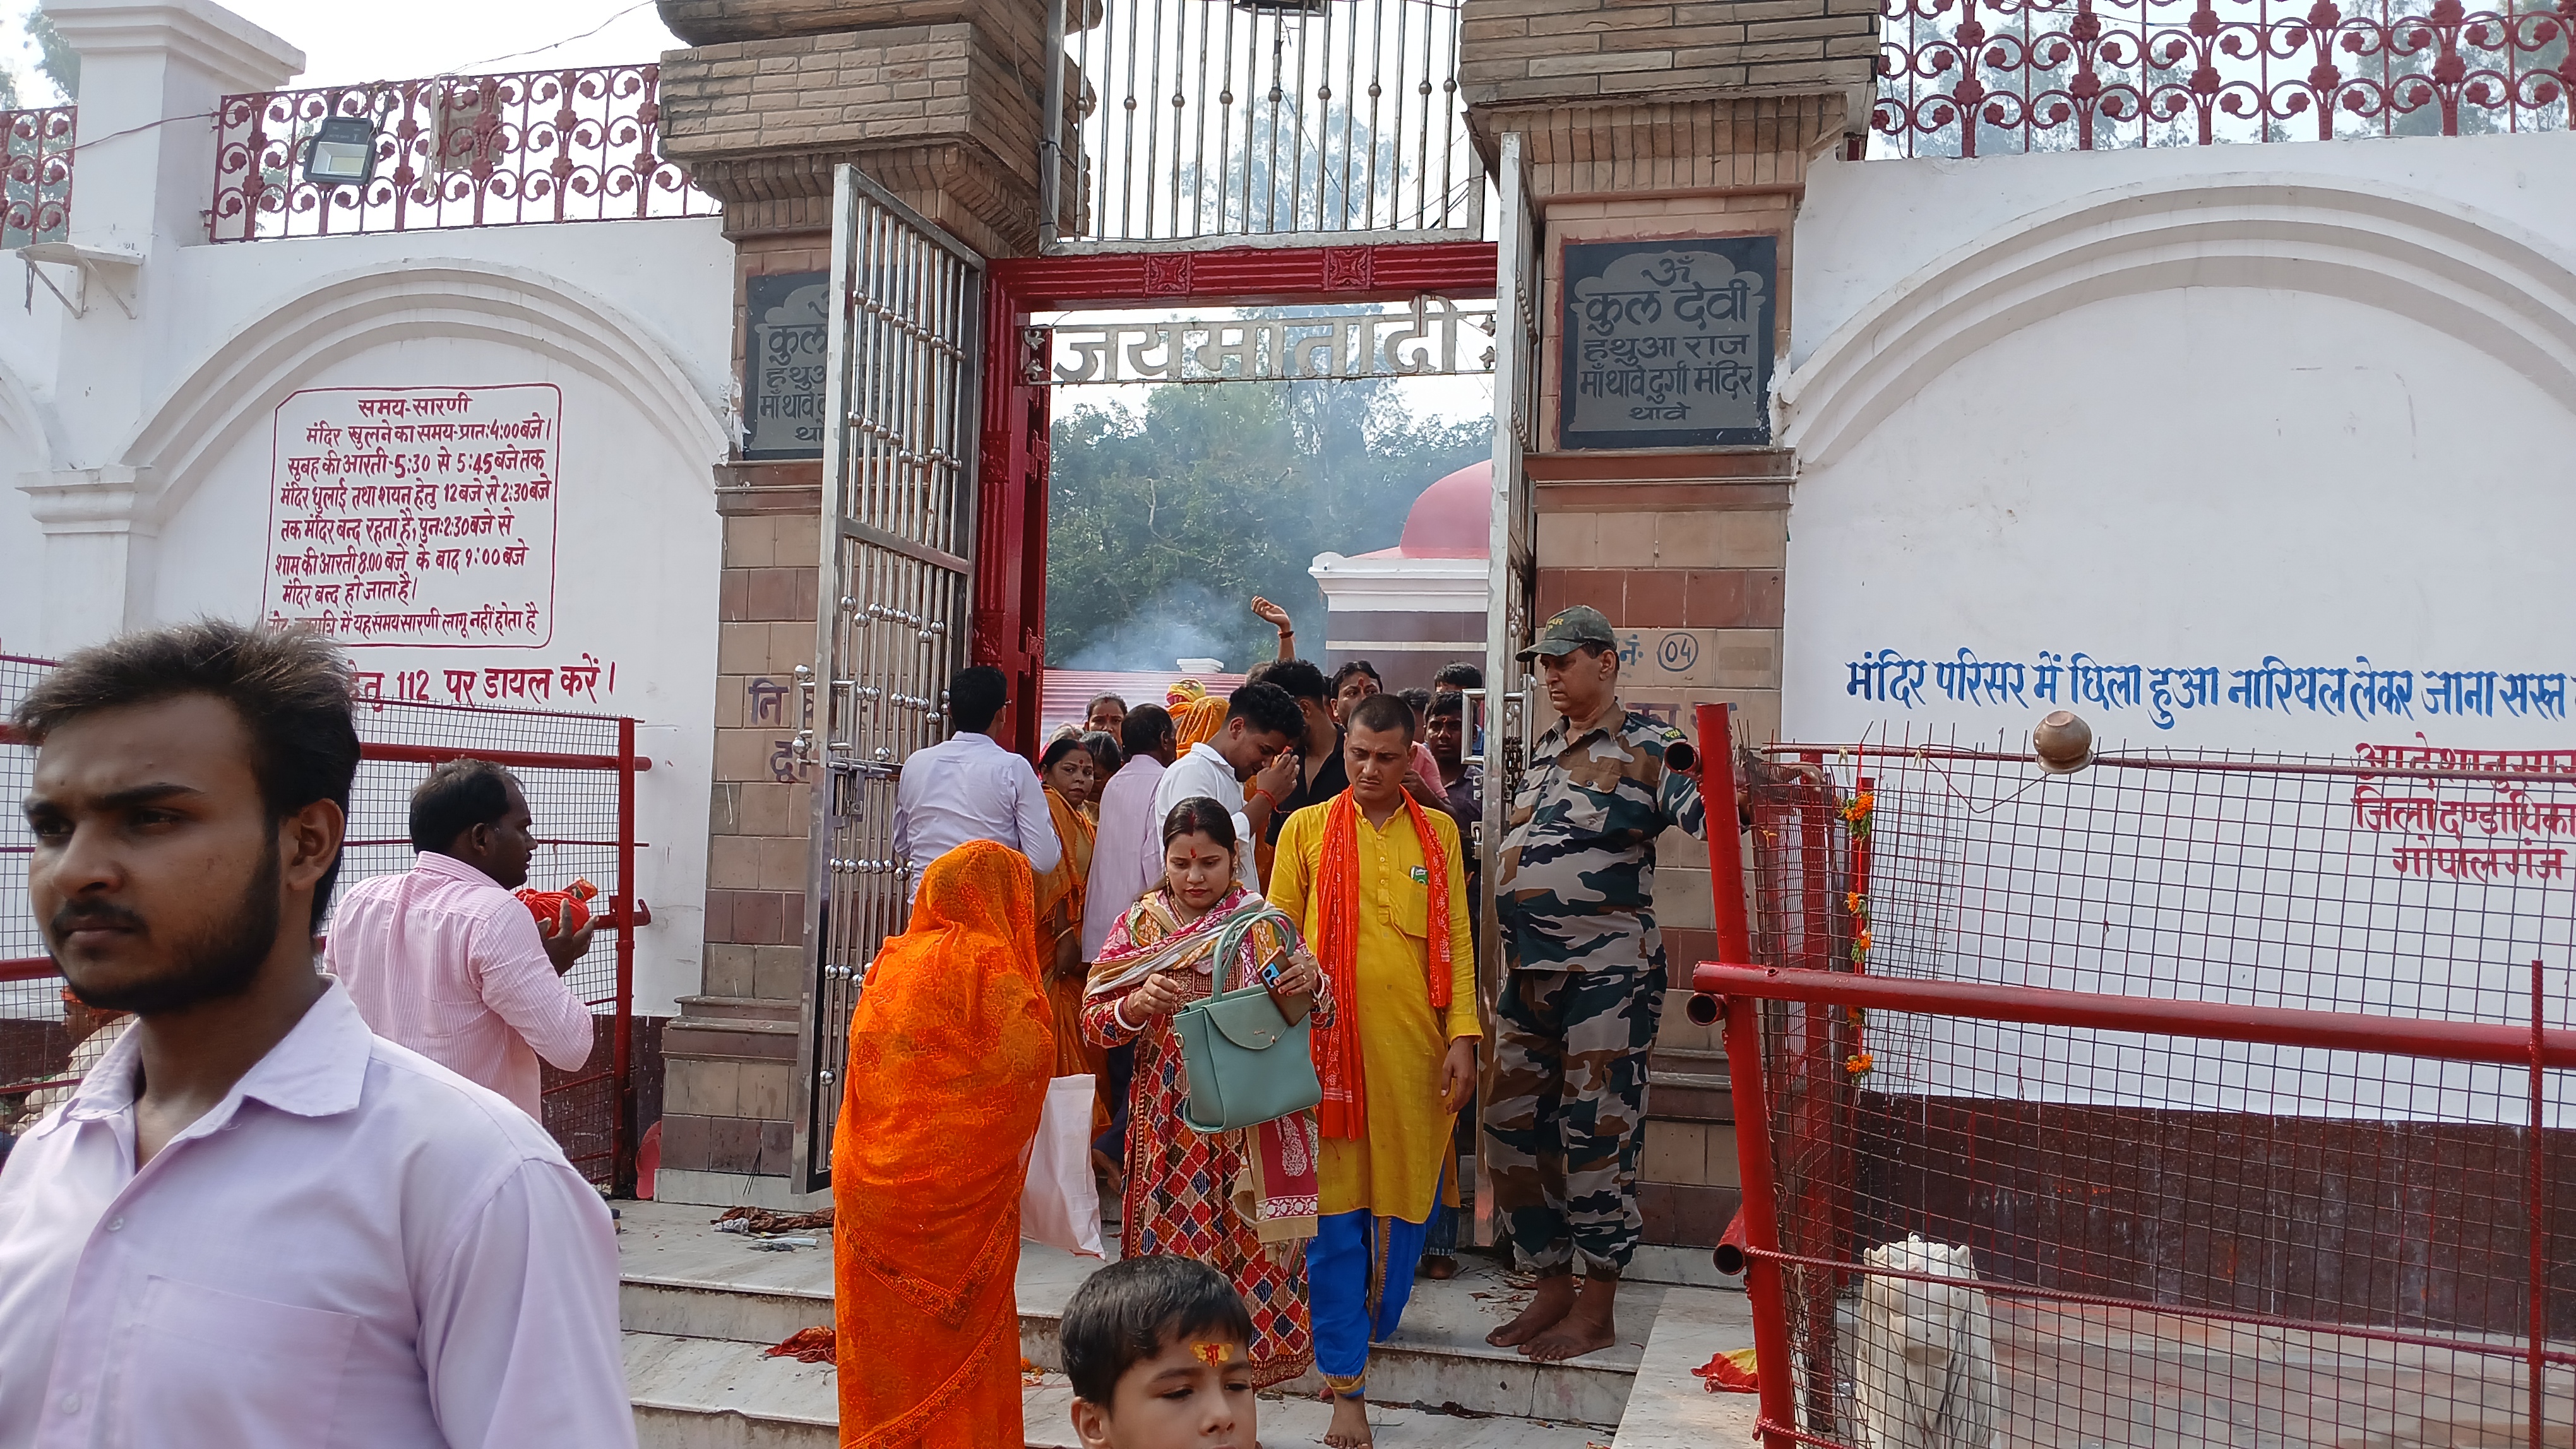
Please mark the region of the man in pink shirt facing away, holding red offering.
<svg viewBox="0 0 2576 1449"><path fill-rule="evenodd" d="M350 885L322 965L379 1037L544 1122L536 1058L562 1071L590 1060L590 1009L564 986L590 927L567 929L567 911L538 934L510 893L528 883L533 829L528 795L500 764L430 770L412 790L420 857L402 875Z"/></svg>

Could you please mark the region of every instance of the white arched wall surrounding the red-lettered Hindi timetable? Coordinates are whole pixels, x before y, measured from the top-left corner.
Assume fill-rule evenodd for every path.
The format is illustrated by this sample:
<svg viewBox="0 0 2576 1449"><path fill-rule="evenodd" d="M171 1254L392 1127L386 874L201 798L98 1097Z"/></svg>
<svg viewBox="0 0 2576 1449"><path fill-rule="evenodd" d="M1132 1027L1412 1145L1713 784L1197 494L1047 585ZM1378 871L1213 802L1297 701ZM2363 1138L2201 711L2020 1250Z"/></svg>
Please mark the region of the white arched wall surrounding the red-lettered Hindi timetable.
<svg viewBox="0 0 2576 1449"><path fill-rule="evenodd" d="M247 90L301 67L294 46L206 0L54 0L49 13L106 57L82 64L82 139L111 129L100 118L183 111L188 77ZM93 291L75 319L44 288L28 311L0 314L0 479L18 484L0 486L0 651L62 654L201 613L258 618L270 422L294 391L559 386L551 641L350 651L389 695L399 672L428 669L438 703L451 700L446 669L616 664L613 690L603 679L595 700L549 703L641 721L654 767L639 785L639 893L654 924L639 934L636 1009L672 1011L701 983L706 901L711 466L732 391L719 221L206 245L196 208L214 147L204 126L152 131L165 134L188 144L82 152L72 188L75 242L142 257L139 317Z"/></svg>

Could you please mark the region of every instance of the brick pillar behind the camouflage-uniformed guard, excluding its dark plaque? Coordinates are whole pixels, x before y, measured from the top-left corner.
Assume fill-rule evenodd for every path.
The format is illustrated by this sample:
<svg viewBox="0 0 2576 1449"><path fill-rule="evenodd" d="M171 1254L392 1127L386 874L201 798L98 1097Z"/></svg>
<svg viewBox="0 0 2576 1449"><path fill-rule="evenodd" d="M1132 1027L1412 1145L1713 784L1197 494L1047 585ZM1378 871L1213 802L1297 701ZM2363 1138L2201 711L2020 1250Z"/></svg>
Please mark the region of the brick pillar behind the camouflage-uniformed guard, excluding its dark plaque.
<svg viewBox="0 0 2576 1449"><path fill-rule="evenodd" d="M1795 458L1777 448L1566 448L1558 438L1566 242L1767 234L1775 355L1788 358L1790 224L1808 160L1857 139L1878 57L1875 0L1466 0L1458 77L1486 157L1525 136L1540 221L1538 615L1592 605L1649 638L1690 631L1687 687L1638 705L1726 700L1739 739L1780 728L1783 571ZM1685 715L1687 718L1687 715ZM1716 955L1708 852L1659 849L1656 916L1674 968ZM1736 1207L1723 1050L1667 1001L1641 1204L1649 1243L1716 1243Z"/></svg>

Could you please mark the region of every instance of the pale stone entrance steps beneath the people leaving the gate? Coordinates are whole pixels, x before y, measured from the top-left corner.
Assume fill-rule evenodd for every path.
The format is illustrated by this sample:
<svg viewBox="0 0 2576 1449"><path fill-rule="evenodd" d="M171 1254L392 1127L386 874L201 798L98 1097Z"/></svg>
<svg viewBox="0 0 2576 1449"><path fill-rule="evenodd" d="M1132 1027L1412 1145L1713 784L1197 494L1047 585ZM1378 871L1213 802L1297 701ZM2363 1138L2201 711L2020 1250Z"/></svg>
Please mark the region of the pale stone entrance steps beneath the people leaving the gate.
<svg viewBox="0 0 2576 1449"><path fill-rule="evenodd" d="M716 1233L706 1207L636 1202L626 1207L621 1233L623 1284L618 1307L626 1331L639 1338L701 1343L675 1359L724 1356L721 1346L752 1354L799 1328L832 1320L829 1238L814 1248L786 1253L757 1251L750 1238ZM1056 1320L1074 1289L1100 1266L1038 1243L1020 1246L1020 1354L1046 1369L1061 1369ZM1450 1282L1417 1282L1404 1328L1370 1354L1373 1398L1401 1405L1458 1405L1468 1413L1556 1421L1618 1423L1636 1380L1669 1284L1628 1282L1620 1289L1620 1343L1566 1364L1533 1364L1507 1349L1492 1349L1484 1336L1499 1325L1528 1292L1512 1287L1502 1266L1484 1253L1461 1256ZM1291 1398L1321 1390L1306 1374L1285 1385ZM639 1400L641 1403L641 1400ZM1458 1421L1466 1423L1466 1421Z"/></svg>

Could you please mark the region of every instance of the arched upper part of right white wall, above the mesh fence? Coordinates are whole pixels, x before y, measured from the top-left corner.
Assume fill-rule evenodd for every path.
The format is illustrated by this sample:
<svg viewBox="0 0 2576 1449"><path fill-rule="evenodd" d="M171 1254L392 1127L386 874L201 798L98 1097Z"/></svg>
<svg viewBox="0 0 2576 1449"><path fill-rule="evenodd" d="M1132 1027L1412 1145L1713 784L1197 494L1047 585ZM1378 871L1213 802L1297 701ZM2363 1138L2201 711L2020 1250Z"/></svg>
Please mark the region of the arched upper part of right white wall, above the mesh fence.
<svg viewBox="0 0 2576 1449"><path fill-rule="evenodd" d="M2141 695L2221 672L2215 708L2061 685L2105 741L2576 744L2563 708L2424 700L2434 669L2576 672L2571 183L2566 136L1819 165L1785 734L2020 739L2038 667L2081 651ZM1852 692L1886 649L1924 661L1917 697ZM1950 697L1960 649L2020 664L2020 700L2009 672ZM2231 705L2267 656L2414 672L2414 700Z"/></svg>

